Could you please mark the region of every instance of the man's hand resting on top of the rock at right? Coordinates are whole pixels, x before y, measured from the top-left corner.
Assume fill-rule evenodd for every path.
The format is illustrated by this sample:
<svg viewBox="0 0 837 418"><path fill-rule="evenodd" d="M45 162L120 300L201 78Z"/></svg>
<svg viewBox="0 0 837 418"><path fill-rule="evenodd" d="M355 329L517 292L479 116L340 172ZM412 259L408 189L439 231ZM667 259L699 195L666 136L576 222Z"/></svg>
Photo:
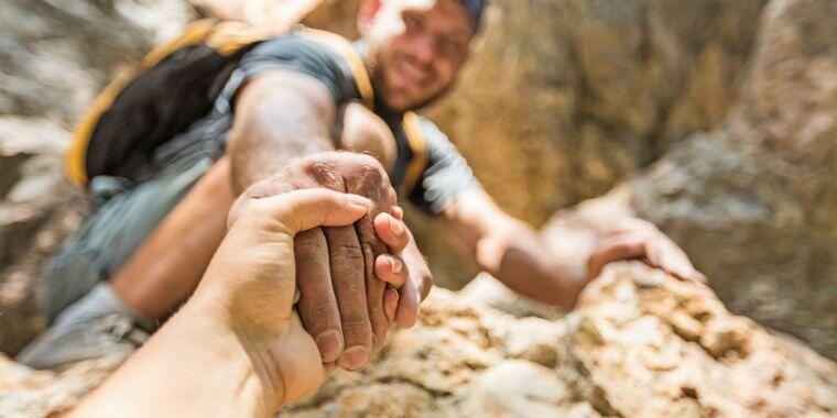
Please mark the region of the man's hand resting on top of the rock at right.
<svg viewBox="0 0 837 418"><path fill-rule="evenodd" d="M587 282L596 278L606 264L632 258L641 258L681 279L708 284L706 276L692 265L674 241L651 222L640 219L623 222L600 240L587 258Z"/></svg>

